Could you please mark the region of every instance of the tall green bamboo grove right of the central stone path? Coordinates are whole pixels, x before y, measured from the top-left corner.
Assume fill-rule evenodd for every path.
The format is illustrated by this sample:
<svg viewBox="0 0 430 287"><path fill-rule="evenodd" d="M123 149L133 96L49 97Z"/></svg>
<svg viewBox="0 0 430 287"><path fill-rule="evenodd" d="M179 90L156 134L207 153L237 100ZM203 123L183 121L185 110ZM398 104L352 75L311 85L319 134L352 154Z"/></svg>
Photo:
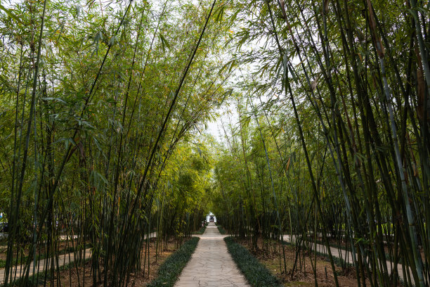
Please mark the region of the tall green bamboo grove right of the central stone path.
<svg viewBox="0 0 430 287"><path fill-rule="evenodd" d="M291 276L310 243L335 240L358 286L429 286L429 2L232 9L236 116L214 168L219 222L263 253L291 238L292 269L278 250Z"/></svg>

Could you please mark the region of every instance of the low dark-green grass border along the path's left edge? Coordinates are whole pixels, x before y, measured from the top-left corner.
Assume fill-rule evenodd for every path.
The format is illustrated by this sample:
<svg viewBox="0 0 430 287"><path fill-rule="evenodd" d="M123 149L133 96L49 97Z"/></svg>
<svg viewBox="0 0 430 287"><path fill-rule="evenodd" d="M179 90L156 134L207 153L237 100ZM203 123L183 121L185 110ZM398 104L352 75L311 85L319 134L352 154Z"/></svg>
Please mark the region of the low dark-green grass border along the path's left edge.
<svg viewBox="0 0 430 287"><path fill-rule="evenodd" d="M182 272L183 267L190 260L194 250L199 242L198 237L193 237L189 241L183 243L181 248L170 255L166 261L164 261L158 269L158 276L147 286L174 286L176 280Z"/></svg>

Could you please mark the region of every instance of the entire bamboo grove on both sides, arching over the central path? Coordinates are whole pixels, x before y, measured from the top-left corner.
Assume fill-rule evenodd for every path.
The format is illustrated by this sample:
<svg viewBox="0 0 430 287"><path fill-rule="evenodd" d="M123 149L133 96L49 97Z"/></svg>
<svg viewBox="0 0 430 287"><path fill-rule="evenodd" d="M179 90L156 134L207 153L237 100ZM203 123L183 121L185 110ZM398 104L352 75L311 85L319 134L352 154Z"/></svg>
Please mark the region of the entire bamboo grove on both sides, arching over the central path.
<svg viewBox="0 0 430 287"><path fill-rule="evenodd" d="M79 286L129 285L150 269L145 238L179 244L211 207L256 250L277 241L285 274L334 240L357 286L429 286L429 8L2 1L4 283L23 266L22 286L30 269L61 286L66 241ZM201 134L224 102L216 145Z"/></svg>

